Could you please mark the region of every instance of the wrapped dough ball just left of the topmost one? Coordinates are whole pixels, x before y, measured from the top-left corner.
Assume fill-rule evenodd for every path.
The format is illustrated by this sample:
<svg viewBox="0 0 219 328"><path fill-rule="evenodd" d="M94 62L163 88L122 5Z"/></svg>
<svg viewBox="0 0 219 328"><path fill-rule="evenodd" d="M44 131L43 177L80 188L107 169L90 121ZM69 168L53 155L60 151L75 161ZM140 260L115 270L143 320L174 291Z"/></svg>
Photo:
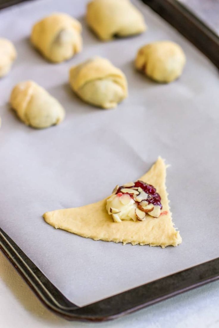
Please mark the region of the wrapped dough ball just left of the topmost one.
<svg viewBox="0 0 219 328"><path fill-rule="evenodd" d="M31 42L44 57L58 63L80 52L81 24L64 13L53 13L37 22L32 29Z"/></svg>

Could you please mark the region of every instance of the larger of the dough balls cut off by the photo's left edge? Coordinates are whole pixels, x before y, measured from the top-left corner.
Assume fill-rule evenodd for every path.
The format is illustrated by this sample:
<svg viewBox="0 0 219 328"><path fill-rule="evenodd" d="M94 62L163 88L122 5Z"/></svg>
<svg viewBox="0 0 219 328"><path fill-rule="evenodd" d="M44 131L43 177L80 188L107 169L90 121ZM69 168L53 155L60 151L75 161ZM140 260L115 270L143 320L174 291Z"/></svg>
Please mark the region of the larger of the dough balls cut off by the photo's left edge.
<svg viewBox="0 0 219 328"><path fill-rule="evenodd" d="M17 53L11 41L0 38L0 77L8 74L16 56Z"/></svg>

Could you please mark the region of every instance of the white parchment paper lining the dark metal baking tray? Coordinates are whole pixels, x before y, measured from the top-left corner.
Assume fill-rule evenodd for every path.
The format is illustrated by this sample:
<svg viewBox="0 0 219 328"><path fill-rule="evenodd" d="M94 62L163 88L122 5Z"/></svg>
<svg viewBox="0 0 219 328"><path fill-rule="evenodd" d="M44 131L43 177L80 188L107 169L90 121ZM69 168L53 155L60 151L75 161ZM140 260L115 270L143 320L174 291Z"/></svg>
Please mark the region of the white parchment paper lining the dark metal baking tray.
<svg viewBox="0 0 219 328"><path fill-rule="evenodd" d="M138 0L148 31L100 42L86 27L86 1L36 0L0 12L0 34L18 51L0 80L0 226L72 302L82 306L213 259L218 252L218 72L195 47ZM83 51L58 65L30 45L33 23L52 11L83 25ZM145 43L170 39L187 57L182 77L156 84L133 68ZM83 103L68 85L68 69L89 57L109 58L128 79L129 97L116 109ZM34 130L8 105L11 88L33 79L65 107L62 124ZM144 174L158 155L171 164L167 189L178 247L94 241L55 230L41 215L85 205L116 184Z"/></svg>

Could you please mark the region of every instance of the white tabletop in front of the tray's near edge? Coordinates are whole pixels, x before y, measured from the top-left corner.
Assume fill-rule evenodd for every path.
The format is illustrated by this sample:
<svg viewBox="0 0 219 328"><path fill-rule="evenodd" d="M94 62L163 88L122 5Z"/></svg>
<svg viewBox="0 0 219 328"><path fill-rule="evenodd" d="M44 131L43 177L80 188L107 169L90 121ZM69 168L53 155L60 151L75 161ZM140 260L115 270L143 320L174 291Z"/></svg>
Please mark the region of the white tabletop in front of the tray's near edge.
<svg viewBox="0 0 219 328"><path fill-rule="evenodd" d="M219 281L173 297L123 318L69 322L47 310L0 252L1 328L218 328Z"/></svg>

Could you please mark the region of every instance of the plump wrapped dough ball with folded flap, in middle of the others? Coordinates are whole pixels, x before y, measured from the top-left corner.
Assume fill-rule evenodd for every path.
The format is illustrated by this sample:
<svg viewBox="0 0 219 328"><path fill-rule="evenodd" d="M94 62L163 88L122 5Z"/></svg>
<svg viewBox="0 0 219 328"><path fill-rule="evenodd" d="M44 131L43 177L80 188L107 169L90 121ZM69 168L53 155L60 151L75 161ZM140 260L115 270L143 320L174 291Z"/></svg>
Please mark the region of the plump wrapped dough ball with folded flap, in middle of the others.
<svg viewBox="0 0 219 328"><path fill-rule="evenodd" d="M69 82L81 99L99 107L116 107L127 97L125 75L105 58L94 57L73 66Z"/></svg>

